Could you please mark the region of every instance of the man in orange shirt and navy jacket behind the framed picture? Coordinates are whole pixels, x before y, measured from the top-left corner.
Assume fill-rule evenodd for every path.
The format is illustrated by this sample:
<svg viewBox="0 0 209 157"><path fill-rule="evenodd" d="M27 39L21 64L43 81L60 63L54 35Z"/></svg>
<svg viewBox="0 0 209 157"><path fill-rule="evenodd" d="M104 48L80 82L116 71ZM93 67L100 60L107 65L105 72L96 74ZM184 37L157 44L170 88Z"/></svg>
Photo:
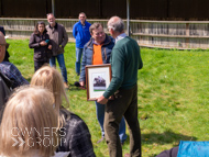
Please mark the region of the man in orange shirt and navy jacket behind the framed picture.
<svg viewBox="0 0 209 157"><path fill-rule="evenodd" d="M109 64L110 55L114 46L113 38L111 36L108 36L103 32L103 27L100 23L94 23L89 27L89 31L91 34L91 38L84 46L84 52L82 52L81 72L79 78L79 83L81 87L84 87L86 82L85 67L87 65ZM100 143L105 139L105 130L103 130L105 105L96 101L96 111L97 111L97 119L99 121L102 132L101 139L97 142ZM119 136L121 139L121 144L123 144L124 141L127 139L124 119L122 119L120 123Z"/></svg>

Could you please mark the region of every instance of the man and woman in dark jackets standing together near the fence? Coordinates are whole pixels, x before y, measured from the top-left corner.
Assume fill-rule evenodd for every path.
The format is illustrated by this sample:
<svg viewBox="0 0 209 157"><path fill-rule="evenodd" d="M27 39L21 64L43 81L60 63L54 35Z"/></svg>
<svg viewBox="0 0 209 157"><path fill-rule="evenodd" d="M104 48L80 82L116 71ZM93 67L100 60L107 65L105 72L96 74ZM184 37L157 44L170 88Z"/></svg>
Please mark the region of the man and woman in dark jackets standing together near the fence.
<svg viewBox="0 0 209 157"><path fill-rule="evenodd" d="M64 47L68 42L68 35L62 24L56 23L53 13L47 14L48 25L44 22L37 22L35 31L30 37L29 47L34 48L34 68L35 71L43 65L50 64L56 67L56 59L61 67L64 86L67 85L67 70L64 59Z"/></svg>

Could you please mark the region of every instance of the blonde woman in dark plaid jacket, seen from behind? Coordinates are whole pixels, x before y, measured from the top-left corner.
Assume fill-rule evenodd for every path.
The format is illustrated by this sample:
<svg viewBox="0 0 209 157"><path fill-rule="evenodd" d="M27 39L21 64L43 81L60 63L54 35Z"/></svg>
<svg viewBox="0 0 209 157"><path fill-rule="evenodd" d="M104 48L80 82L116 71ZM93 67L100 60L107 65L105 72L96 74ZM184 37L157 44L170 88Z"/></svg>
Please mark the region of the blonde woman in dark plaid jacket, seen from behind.
<svg viewBox="0 0 209 157"><path fill-rule="evenodd" d="M69 104L63 78L53 67L44 66L38 69L31 80L31 86L41 86L53 92L55 110L59 114L58 127L61 143L57 152L70 152L70 157L95 157L88 126L76 114L62 106L63 98Z"/></svg>

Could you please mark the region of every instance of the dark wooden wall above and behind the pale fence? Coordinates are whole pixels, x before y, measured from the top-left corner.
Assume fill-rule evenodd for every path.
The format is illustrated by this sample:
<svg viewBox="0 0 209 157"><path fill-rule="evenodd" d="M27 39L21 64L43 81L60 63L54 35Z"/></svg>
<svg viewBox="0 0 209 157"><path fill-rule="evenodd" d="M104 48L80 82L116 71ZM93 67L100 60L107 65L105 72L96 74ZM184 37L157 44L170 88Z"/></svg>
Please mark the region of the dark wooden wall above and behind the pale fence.
<svg viewBox="0 0 209 157"><path fill-rule="evenodd" d="M52 0L0 0L0 16L45 18ZM209 20L209 0L130 0L130 18L141 20ZM56 18L127 18L127 0L55 0Z"/></svg>

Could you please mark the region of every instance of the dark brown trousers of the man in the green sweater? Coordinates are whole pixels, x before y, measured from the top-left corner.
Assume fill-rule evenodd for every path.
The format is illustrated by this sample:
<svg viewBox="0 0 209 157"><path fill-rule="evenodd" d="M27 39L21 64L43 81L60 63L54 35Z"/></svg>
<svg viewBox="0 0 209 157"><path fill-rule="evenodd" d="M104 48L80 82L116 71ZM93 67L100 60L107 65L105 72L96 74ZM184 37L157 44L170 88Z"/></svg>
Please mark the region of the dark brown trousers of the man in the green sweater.
<svg viewBox="0 0 209 157"><path fill-rule="evenodd" d="M138 120L138 86L119 89L116 99L109 100L105 112L106 142L110 157L122 157L122 147L118 135L119 124L124 116L130 133L130 155L141 157L141 131Z"/></svg>

